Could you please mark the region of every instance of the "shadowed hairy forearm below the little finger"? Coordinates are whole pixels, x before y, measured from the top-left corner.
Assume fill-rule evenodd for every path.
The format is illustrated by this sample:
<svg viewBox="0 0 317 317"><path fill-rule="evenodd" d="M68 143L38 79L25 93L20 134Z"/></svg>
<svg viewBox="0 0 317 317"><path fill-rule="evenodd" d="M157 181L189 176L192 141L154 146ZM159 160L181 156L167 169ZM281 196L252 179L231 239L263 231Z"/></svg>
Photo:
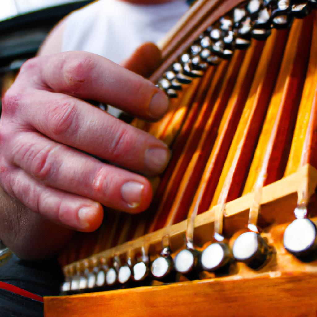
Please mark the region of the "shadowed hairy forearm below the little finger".
<svg viewBox="0 0 317 317"><path fill-rule="evenodd" d="M0 186L0 239L17 256L23 259L53 256L73 232L31 212Z"/></svg>

